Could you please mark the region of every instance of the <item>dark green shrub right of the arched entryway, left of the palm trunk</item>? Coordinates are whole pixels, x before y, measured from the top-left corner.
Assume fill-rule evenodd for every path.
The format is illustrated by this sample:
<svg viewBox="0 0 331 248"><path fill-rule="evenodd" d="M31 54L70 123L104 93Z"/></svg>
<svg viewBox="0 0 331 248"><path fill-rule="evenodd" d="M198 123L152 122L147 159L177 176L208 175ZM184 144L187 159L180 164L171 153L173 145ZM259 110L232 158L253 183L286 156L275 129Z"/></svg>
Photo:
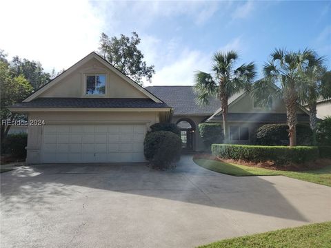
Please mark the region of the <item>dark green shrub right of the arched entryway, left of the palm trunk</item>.
<svg viewBox="0 0 331 248"><path fill-rule="evenodd" d="M212 143L221 143L223 141L223 129L218 123L200 123L198 125L199 133L203 143L208 149Z"/></svg>

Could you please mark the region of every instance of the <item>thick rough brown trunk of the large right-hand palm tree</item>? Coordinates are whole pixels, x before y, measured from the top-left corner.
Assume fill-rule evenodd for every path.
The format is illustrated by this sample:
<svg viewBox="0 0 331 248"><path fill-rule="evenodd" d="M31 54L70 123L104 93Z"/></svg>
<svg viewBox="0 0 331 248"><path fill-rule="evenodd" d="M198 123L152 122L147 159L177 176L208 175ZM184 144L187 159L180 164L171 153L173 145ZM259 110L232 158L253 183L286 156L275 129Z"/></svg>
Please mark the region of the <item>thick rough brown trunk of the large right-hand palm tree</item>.
<svg viewBox="0 0 331 248"><path fill-rule="evenodd" d="M288 136L290 138L290 146L297 145L297 93L290 90L288 95L284 97L286 116L288 121Z"/></svg>

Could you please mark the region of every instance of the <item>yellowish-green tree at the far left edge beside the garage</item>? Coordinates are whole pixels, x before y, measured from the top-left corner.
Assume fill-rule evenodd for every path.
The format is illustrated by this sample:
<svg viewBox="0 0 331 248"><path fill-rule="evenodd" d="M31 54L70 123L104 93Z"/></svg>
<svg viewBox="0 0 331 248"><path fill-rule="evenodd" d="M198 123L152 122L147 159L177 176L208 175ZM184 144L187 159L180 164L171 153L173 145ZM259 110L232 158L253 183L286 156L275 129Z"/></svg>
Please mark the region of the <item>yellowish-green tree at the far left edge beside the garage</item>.
<svg viewBox="0 0 331 248"><path fill-rule="evenodd" d="M0 84L1 84L1 120L14 121L19 118L8 110L10 105L23 101L33 90L32 85L23 75L12 77L8 63L0 61ZM1 145L10 130L10 125L3 125L1 121Z"/></svg>

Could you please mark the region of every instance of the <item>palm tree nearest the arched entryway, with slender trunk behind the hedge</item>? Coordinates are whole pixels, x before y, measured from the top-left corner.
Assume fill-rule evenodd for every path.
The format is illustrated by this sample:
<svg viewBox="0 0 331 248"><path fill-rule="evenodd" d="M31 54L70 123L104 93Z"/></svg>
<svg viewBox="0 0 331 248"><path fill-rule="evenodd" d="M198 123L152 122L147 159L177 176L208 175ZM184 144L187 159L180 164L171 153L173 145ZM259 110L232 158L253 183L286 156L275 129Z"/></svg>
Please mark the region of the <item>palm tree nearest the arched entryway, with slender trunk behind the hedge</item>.
<svg viewBox="0 0 331 248"><path fill-rule="evenodd" d="M234 51L217 52L213 56L213 74L198 71L194 76L194 89L197 92L197 103L209 103L210 97L217 96L221 101L223 115L224 142L228 142L228 99L232 94L248 90L255 77L254 63L240 65L234 68L238 54Z"/></svg>

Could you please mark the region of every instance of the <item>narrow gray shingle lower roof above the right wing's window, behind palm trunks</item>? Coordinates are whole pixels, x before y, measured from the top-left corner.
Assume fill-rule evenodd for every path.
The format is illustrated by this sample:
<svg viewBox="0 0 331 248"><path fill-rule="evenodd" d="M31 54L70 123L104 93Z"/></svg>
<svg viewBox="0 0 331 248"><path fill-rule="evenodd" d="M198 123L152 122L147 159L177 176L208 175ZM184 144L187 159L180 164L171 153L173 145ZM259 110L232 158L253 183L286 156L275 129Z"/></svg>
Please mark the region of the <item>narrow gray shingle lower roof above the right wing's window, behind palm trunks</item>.
<svg viewBox="0 0 331 248"><path fill-rule="evenodd" d="M299 122L309 122L308 114L297 114ZM223 121L222 115L212 116L208 121ZM228 113L228 121L249 121L254 123L286 123L286 114Z"/></svg>

